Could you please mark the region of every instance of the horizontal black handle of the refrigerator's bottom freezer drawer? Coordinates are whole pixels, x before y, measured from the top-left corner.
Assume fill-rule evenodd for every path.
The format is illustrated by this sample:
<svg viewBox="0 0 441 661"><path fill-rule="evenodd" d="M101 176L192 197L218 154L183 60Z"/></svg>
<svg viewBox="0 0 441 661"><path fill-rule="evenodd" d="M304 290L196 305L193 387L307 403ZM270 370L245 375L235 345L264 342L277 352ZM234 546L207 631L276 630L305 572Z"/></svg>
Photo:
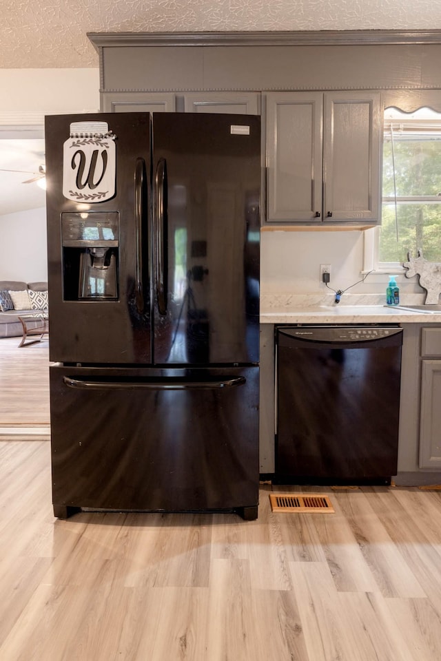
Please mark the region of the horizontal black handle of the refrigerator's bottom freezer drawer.
<svg viewBox="0 0 441 661"><path fill-rule="evenodd" d="M88 381L88 379L74 379L63 377L63 383L69 388L81 390L196 390L201 388L236 388L243 386L247 379L245 377L230 377L227 379L216 379L216 381L186 381L185 379L171 381Z"/></svg>

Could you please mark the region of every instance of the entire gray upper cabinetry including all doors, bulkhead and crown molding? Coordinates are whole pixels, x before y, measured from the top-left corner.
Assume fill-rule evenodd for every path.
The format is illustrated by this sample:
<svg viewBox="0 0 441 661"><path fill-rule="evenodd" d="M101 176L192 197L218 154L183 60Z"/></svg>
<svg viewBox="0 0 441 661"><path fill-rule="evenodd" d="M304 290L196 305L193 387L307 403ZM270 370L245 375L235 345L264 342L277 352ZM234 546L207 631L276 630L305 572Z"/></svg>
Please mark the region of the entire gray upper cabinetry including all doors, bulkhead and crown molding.
<svg viewBox="0 0 441 661"><path fill-rule="evenodd" d="M377 224L382 109L441 93L441 30L88 36L103 112L262 115L263 229Z"/></svg>

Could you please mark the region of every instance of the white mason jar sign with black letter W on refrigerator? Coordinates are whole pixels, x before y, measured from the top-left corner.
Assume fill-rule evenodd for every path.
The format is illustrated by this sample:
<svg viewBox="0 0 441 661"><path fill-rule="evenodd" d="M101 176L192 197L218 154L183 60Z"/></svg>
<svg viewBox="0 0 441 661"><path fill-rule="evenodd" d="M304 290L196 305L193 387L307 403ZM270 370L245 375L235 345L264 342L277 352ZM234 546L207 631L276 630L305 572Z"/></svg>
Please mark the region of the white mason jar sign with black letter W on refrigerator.
<svg viewBox="0 0 441 661"><path fill-rule="evenodd" d="M116 153L112 134L71 134L63 147L63 196L90 204L115 194Z"/></svg>

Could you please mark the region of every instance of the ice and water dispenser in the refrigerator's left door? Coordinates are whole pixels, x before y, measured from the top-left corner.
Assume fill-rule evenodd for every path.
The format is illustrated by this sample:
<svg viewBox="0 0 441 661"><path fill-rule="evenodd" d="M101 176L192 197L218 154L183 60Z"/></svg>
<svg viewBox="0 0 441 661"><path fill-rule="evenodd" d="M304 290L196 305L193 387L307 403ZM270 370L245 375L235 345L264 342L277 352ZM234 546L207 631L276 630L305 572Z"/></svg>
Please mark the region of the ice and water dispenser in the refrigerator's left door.
<svg viewBox="0 0 441 661"><path fill-rule="evenodd" d="M63 298L117 300L118 211L61 214Z"/></svg>

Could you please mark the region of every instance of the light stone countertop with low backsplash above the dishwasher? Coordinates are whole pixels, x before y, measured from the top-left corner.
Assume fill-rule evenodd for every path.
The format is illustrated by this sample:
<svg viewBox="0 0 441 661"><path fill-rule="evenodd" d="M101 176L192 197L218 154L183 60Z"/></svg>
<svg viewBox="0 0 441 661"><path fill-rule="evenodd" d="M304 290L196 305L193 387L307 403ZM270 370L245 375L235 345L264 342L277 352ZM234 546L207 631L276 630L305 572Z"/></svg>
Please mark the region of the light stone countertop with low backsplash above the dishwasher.
<svg viewBox="0 0 441 661"><path fill-rule="evenodd" d="M261 324L441 324L440 313L412 312L386 306L380 295L334 297L269 294L260 296ZM421 295L409 295L401 305L420 305Z"/></svg>

